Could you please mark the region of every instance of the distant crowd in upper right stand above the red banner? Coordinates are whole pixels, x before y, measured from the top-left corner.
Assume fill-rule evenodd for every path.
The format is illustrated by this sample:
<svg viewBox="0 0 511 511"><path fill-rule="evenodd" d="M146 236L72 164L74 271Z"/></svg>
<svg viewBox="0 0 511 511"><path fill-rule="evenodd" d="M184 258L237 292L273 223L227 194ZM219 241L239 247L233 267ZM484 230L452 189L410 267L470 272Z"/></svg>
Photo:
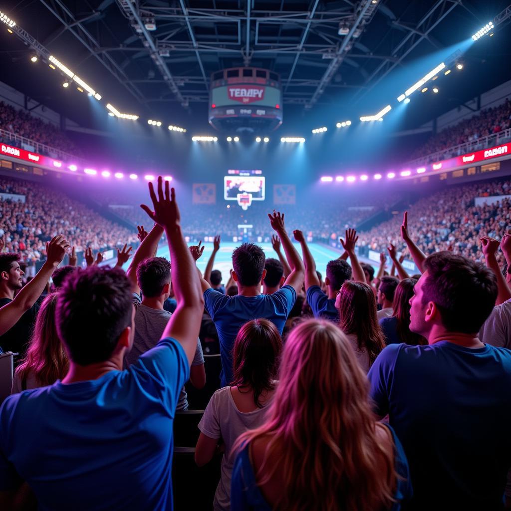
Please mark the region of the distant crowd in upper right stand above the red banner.
<svg viewBox="0 0 511 511"><path fill-rule="evenodd" d="M432 135L424 145L412 153L412 158L420 158L466 142L476 141L483 136L500 133L510 126L511 102L506 99L501 105L484 108L471 118L463 119L458 124Z"/></svg>

